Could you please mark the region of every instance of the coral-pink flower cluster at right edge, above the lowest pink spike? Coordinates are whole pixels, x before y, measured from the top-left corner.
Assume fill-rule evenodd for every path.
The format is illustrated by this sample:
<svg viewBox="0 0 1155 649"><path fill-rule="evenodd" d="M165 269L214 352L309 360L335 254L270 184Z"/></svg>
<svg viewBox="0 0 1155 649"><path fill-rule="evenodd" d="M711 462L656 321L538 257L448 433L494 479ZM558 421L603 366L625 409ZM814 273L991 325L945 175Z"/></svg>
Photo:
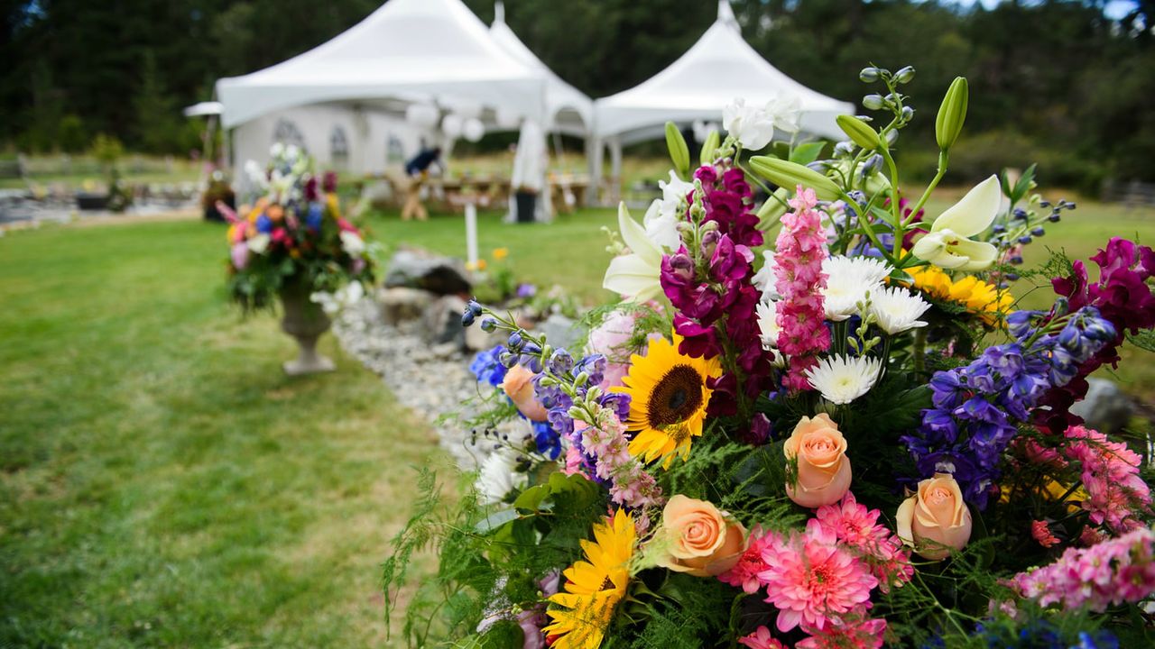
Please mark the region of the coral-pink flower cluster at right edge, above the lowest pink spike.
<svg viewBox="0 0 1155 649"><path fill-rule="evenodd" d="M1067 428L1066 438L1075 440L1063 454L1082 467L1080 479L1088 494L1082 508L1090 513L1090 520L1106 523L1115 532L1139 525L1134 515L1152 505L1150 487L1139 476L1139 454L1082 426Z"/></svg>

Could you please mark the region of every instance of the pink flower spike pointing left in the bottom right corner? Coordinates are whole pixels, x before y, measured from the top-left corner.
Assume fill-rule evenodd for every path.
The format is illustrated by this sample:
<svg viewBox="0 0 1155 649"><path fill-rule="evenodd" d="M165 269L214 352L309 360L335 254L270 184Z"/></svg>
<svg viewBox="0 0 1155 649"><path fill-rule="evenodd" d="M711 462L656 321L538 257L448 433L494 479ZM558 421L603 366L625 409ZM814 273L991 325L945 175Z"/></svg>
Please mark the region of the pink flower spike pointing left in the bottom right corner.
<svg viewBox="0 0 1155 649"><path fill-rule="evenodd" d="M1057 561L1015 575L1011 583L1042 606L1088 606L1102 612L1155 594L1155 532L1140 528L1083 550L1068 547Z"/></svg>

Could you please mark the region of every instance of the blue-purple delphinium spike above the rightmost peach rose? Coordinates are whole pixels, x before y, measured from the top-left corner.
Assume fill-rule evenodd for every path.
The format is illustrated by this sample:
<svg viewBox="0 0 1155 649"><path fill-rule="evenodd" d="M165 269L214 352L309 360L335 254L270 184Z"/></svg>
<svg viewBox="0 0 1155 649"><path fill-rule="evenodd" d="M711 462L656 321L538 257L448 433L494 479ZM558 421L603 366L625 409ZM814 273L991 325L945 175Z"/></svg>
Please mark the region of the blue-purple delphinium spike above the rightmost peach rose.
<svg viewBox="0 0 1155 649"><path fill-rule="evenodd" d="M1003 452L1052 387L1070 382L1079 365L1115 338L1115 327L1094 307L1040 324L1041 312L1007 318L1013 343L989 348L970 365L937 372L933 408L904 435L919 477L952 473L963 498L979 509L1000 477ZM1042 329L1042 330L1041 330Z"/></svg>

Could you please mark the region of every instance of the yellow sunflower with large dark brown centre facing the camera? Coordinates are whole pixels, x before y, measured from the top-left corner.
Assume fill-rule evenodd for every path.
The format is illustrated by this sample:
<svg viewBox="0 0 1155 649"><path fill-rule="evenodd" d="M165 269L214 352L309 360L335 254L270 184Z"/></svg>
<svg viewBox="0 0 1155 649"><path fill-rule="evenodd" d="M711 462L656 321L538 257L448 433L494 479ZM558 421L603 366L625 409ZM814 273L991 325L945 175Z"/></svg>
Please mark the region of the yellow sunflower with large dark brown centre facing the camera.
<svg viewBox="0 0 1155 649"><path fill-rule="evenodd" d="M649 344L646 356L629 357L625 387L614 391L629 395L626 428L635 433L631 455L646 462L664 457L668 468L675 455L690 456L692 439L702 434L706 405L714 393L706 379L722 374L717 358L691 358L678 353L681 336L673 342L660 338Z"/></svg>

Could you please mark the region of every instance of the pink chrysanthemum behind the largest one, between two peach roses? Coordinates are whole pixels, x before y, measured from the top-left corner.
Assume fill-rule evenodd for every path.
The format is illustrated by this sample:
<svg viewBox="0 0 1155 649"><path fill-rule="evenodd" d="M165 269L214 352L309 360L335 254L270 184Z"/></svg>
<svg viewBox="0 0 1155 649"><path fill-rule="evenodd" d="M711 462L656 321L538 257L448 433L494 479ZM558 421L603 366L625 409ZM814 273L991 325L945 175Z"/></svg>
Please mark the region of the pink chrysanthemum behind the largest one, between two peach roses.
<svg viewBox="0 0 1155 649"><path fill-rule="evenodd" d="M910 554L902 540L878 523L881 512L859 505L847 492L837 505L825 505L815 513L818 524L833 534L854 554L870 565L871 574L879 580L884 592L901 585L914 576Z"/></svg>

